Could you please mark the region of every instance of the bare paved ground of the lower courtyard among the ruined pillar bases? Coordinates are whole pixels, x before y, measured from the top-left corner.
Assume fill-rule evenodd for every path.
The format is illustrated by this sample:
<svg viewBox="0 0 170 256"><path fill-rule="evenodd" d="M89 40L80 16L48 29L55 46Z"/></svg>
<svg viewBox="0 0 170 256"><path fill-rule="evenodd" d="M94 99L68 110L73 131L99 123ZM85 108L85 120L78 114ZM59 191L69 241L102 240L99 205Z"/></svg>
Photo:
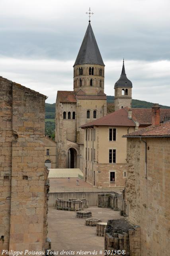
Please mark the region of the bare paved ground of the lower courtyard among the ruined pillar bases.
<svg viewBox="0 0 170 256"><path fill-rule="evenodd" d="M92 217L103 222L109 219L122 218L119 211L109 208L89 207ZM85 219L76 218L76 212L49 208L48 237L52 250L64 251L99 251L104 250L104 237L96 236L96 227L85 226ZM76 255L76 253L75 253ZM88 254L89 255L89 254ZM100 255L99 253L97 255Z"/></svg>

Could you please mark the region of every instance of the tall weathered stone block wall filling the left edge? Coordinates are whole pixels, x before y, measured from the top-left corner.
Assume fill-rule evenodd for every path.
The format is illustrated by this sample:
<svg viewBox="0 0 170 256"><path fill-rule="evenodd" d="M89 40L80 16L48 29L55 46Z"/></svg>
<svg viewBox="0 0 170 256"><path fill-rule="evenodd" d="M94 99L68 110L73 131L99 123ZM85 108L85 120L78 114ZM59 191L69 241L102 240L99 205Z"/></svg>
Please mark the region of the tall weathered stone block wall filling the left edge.
<svg viewBox="0 0 170 256"><path fill-rule="evenodd" d="M0 248L44 250L46 96L0 77Z"/></svg>

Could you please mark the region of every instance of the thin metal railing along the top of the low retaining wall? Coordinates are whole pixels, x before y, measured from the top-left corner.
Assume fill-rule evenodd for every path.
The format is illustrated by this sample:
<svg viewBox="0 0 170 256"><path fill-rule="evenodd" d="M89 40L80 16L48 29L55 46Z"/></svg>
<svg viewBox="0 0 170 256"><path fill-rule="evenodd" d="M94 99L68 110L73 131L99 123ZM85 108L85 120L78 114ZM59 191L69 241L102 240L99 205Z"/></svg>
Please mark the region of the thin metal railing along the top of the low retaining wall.
<svg viewBox="0 0 170 256"><path fill-rule="evenodd" d="M95 187L82 187L79 188L73 187L73 188L51 188L50 187L50 193L65 193L65 192L117 192L120 193L125 187L108 187L108 188L95 188Z"/></svg>

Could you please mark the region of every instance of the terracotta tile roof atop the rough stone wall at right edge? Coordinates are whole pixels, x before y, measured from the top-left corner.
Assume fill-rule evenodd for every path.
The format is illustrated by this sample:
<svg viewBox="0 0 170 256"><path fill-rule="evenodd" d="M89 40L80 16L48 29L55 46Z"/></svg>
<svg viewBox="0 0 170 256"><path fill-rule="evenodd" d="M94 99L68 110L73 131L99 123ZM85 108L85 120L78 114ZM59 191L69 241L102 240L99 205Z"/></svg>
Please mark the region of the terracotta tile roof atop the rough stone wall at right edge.
<svg viewBox="0 0 170 256"><path fill-rule="evenodd" d="M170 121L139 129L136 132L123 135L123 137L170 137Z"/></svg>

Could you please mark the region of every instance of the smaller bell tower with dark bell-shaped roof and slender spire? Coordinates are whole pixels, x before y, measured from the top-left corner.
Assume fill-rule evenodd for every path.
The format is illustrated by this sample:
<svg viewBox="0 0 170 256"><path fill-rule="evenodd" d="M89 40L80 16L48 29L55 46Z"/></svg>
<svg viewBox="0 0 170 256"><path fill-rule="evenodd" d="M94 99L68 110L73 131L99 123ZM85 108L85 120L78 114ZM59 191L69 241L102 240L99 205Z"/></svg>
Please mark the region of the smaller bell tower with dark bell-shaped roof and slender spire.
<svg viewBox="0 0 170 256"><path fill-rule="evenodd" d="M120 108L131 108L132 102L132 82L127 79L123 59L123 67L119 80L115 83L115 111Z"/></svg>

